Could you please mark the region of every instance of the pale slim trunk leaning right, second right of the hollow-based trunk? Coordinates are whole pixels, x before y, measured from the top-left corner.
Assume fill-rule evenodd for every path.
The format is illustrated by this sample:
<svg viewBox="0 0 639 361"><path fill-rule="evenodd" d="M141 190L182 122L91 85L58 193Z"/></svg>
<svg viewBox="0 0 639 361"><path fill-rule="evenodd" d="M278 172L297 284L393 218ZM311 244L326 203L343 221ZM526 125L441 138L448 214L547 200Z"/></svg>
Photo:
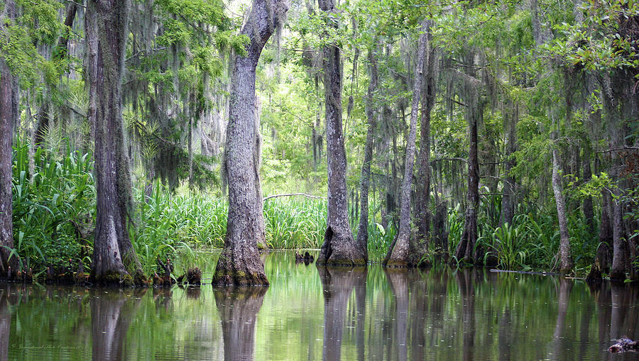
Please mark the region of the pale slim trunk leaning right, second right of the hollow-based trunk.
<svg viewBox="0 0 639 361"><path fill-rule="evenodd" d="M417 63L415 65L415 82L413 83L413 105L410 109L410 126L406 140L406 160L404 180L402 183L402 199L400 208L400 226L395 240L383 260L384 266L412 267L420 260L421 252L413 249L415 240L410 236L410 188L413 184L413 165L415 163L415 140L417 138L417 114L422 91L422 73L427 43L427 23L422 23L420 38L417 41Z"/></svg>

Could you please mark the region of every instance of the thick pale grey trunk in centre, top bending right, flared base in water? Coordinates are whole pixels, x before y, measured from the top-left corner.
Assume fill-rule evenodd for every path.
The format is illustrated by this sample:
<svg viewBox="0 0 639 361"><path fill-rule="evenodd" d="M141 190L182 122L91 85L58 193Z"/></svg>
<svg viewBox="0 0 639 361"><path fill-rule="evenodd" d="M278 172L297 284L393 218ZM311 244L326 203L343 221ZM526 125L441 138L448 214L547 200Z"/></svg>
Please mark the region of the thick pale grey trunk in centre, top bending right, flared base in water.
<svg viewBox="0 0 639 361"><path fill-rule="evenodd" d="M287 10L283 0L255 0L241 30L251 42L246 56L236 55L231 75L224 157L229 179L229 215L224 250L215 267L213 284L268 285L258 253L258 244L266 244L266 239L255 77L262 49Z"/></svg>

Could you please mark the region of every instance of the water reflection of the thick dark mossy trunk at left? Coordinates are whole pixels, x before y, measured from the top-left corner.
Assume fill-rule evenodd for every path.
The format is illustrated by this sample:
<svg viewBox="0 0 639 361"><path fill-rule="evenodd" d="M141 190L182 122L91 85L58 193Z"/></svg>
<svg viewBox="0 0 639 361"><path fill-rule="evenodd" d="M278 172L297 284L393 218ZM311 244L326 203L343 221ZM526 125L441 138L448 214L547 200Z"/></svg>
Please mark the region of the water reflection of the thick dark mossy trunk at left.
<svg viewBox="0 0 639 361"><path fill-rule="evenodd" d="M124 339L146 289L91 291L92 360L125 360Z"/></svg>

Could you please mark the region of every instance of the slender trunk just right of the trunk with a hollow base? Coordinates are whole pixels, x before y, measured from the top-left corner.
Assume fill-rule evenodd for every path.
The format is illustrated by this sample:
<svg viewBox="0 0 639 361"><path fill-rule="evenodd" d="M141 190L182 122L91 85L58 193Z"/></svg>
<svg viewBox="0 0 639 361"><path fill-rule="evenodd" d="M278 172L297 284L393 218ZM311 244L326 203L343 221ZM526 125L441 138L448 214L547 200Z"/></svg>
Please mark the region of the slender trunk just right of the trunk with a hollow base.
<svg viewBox="0 0 639 361"><path fill-rule="evenodd" d="M377 91L379 74L377 70L376 52L378 46L368 52L368 61L371 62L371 82L368 84L366 98L366 117L368 118L368 130L366 131L366 144L364 145L364 163L361 165L360 180L360 212L359 226L357 228L357 246L364 253L364 260L368 261L368 187L371 179L371 160L373 160L373 135L377 124L374 97Z"/></svg>

